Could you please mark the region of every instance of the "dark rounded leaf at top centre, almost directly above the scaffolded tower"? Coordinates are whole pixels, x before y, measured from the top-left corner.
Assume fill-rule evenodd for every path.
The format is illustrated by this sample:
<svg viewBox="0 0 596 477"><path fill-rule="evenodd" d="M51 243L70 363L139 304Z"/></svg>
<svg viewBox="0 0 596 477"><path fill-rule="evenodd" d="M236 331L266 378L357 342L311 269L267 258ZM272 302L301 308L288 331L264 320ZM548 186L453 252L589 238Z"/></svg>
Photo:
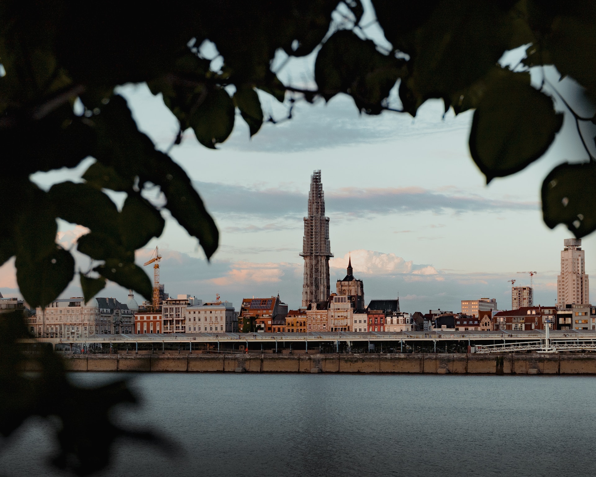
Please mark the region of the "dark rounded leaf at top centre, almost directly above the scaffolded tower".
<svg viewBox="0 0 596 477"><path fill-rule="evenodd" d="M372 40L340 30L319 51L315 80L325 100L344 92L354 98L359 110L379 114L402 66L403 60L381 54Z"/></svg>

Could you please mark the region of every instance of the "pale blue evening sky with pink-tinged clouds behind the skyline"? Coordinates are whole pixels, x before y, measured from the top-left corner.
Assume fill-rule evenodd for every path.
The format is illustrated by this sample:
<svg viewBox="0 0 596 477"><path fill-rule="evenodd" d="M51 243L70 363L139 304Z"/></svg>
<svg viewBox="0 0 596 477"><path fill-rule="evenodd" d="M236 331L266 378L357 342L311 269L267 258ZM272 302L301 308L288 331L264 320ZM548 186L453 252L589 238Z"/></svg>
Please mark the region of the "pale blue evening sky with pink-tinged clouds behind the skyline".
<svg viewBox="0 0 596 477"><path fill-rule="evenodd" d="M289 63L280 78L286 84L308 85L312 58ZM570 97L578 94L569 79L558 88ZM120 86L118 92L139 129L157 148L167 150L178 125L160 95L152 95L144 83ZM259 96L265 116L287 115L287 103L262 92ZM390 98L399 102L395 91ZM544 225L539 194L555 165L586 160L572 117L566 114L544 157L486 185L468 150L473 112L443 112L442 101L429 100L415 118L392 111L366 116L350 97L337 95L328 103L298 101L292 119L265 123L253 138L237 114L231 137L217 150L200 145L189 129L170 155L215 218L219 249L207 262L197 240L163 210L162 236L138 250L136 261L142 266L159 246L161 281L172 296L188 293L210 300L219 293L238 309L242 298L279 293L290 308L297 308L302 299L302 217L311 174L321 169L334 254L332 292L351 256L354 275L364 280L367 303L399 295L402 311L461 311L461 300L486 297L496 298L499 309L510 309L508 280L527 285L529 274L518 272L536 271L535 304L554 304L560 250L563 239L572 235L563 225L554 230ZM77 168L36 173L31 179L44 189L64 180L80 181L93 162L88 158ZM159 190L145 195L157 199ZM110 197L121 206L126 195ZM69 249L86 233L60 220L58 228L58 243ZM582 246L586 271L594 274L596 236L583 239ZM76 258L77 267L86 270L88 259ZM0 267L0 292L20 296L14 259ZM126 295L128 290L114 283L98 294L122 302ZM82 296L78 277L63 293L68 296Z"/></svg>

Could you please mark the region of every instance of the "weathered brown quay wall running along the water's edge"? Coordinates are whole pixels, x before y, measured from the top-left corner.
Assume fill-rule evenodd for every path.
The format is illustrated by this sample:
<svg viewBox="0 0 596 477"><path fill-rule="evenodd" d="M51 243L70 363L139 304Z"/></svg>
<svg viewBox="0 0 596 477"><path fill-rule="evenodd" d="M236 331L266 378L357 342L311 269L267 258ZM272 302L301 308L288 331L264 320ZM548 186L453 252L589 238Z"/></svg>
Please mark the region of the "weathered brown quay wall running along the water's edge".
<svg viewBox="0 0 596 477"><path fill-rule="evenodd" d="M596 374L596 354L84 354L70 371Z"/></svg>

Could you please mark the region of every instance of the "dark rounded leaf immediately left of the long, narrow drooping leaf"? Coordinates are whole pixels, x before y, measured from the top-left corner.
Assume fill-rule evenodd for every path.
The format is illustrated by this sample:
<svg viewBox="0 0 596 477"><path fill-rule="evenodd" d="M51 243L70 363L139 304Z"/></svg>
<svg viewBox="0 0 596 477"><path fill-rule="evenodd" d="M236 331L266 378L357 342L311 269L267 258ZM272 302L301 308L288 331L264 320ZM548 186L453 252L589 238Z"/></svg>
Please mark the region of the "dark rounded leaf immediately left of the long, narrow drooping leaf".
<svg viewBox="0 0 596 477"><path fill-rule="evenodd" d="M159 210L140 194L129 192L122 212L118 214L120 238L126 249L139 249L151 240L151 237L159 237L164 225L165 221Z"/></svg>

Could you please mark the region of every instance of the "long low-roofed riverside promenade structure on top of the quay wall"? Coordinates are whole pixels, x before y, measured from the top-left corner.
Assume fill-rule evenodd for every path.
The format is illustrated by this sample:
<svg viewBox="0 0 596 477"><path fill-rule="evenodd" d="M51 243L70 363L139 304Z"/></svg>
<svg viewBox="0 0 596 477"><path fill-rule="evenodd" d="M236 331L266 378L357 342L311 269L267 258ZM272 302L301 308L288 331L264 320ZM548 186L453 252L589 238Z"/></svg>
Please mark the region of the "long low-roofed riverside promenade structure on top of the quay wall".
<svg viewBox="0 0 596 477"><path fill-rule="evenodd" d="M170 333L96 334L85 339L38 338L56 351L195 353L503 353L596 351L594 330L313 333Z"/></svg>

